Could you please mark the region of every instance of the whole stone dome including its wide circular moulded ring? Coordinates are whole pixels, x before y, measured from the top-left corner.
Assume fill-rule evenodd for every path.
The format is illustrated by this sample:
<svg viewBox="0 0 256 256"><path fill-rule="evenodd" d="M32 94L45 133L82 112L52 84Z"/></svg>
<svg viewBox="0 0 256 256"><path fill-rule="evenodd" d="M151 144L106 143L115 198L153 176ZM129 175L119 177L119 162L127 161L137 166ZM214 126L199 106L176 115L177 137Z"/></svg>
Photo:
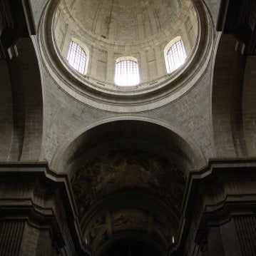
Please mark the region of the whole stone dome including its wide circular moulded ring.
<svg viewBox="0 0 256 256"><path fill-rule="evenodd" d="M56 0L44 18L41 46L54 79L104 111L174 101L203 75L213 47L200 0Z"/></svg>

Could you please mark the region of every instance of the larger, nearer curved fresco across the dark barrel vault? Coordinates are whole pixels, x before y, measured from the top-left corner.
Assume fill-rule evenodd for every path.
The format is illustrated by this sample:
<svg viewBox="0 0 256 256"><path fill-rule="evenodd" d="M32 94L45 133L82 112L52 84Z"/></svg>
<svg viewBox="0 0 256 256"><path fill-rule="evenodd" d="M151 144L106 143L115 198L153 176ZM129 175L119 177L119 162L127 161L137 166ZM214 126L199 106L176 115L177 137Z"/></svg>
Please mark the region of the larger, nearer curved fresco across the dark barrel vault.
<svg viewBox="0 0 256 256"><path fill-rule="evenodd" d="M183 197L183 172L160 155L144 151L114 151L91 160L76 172L73 190L79 213L104 195L145 189L178 210Z"/></svg>

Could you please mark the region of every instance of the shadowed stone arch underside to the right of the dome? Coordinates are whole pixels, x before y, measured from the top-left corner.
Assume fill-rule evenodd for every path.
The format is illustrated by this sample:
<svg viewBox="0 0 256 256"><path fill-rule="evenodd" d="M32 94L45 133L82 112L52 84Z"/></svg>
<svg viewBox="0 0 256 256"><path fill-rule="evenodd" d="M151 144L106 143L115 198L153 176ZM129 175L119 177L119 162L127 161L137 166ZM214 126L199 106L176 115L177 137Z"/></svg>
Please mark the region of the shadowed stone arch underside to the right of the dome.
<svg viewBox="0 0 256 256"><path fill-rule="evenodd" d="M222 34L213 72L212 111L217 157L247 155L242 121L242 90L246 56L235 52L237 40Z"/></svg>

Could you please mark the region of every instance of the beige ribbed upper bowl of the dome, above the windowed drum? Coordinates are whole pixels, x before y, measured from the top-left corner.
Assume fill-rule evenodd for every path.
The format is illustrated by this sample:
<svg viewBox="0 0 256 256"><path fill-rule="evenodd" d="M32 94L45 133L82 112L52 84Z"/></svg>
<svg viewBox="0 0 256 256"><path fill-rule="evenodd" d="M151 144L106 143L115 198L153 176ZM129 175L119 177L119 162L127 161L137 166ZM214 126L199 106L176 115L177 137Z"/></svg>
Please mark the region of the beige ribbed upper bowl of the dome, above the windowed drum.
<svg viewBox="0 0 256 256"><path fill-rule="evenodd" d="M85 31L115 42L145 41L183 20L186 0L65 0ZM190 1L187 1L188 3ZM184 6L183 3L183 6ZM166 31L165 31L166 33Z"/></svg>

